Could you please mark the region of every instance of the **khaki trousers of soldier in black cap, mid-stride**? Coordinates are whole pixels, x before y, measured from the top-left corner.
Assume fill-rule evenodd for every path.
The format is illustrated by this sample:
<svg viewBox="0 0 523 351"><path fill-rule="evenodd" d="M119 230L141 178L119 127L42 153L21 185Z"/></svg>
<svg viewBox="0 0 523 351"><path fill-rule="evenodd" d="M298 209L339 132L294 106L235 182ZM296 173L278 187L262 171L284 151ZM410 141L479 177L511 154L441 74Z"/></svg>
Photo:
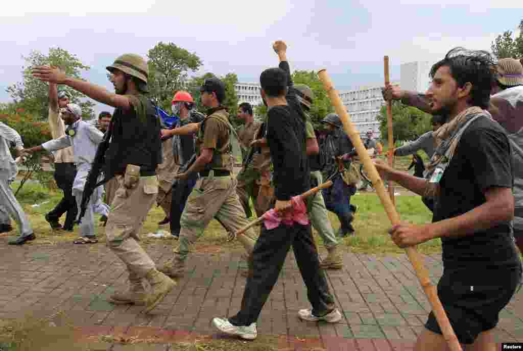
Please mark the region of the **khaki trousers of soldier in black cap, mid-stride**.
<svg viewBox="0 0 523 351"><path fill-rule="evenodd" d="M175 250L176 260L187 259L190 246L203 234L214 217L232 232L249 223L236 194L236 179L231 176L213 177L211 171L209 177L198 179L187 198L180 218L180 243ZM255 238L252 228L237 238L247 254L252 253L256 242L252 238Z"/></svg>

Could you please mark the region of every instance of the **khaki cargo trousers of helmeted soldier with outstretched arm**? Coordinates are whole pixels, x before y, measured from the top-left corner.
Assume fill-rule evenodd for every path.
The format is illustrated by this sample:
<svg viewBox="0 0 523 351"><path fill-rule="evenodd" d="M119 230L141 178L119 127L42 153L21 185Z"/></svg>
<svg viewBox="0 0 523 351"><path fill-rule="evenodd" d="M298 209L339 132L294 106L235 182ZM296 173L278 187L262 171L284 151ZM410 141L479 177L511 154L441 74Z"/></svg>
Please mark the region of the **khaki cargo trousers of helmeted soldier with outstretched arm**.
<svg viewBox="0 0 523 351"><path fill-rule="evenodd" d="M123 176L116 178L120 186L108 216L107 245L127 265L130 273L143 278L156 266L138 244L138 234L156 200L158 180L156 176L140 177L133 188L127 189L123 185Z"/></svg>

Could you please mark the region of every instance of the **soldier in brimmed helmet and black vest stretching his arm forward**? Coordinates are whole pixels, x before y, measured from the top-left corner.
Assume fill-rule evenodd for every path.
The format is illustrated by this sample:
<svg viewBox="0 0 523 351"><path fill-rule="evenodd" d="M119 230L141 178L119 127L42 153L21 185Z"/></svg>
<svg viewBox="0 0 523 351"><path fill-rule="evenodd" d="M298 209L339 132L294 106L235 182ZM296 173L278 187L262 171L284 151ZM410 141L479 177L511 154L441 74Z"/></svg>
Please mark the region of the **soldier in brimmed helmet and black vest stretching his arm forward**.
<svg viewBox="0 0 523 351"><path fill-rule="evenodd" d="M160 121L147 92L149 68L143 57L124 54L107 67L115 93L87 81L68 77L60 68L33 67L33 76L64 84L88 97L115 107L111 121L112 137L106 151L105 177L120 184L108 215L106 236L109 249L129 272L129 289L111 296L114 303L146 305L150 312L176 283L158 272L140 246L139 232L156 200L156 167L161 162ZM146 292L142 280L147 280Z"/></svg>

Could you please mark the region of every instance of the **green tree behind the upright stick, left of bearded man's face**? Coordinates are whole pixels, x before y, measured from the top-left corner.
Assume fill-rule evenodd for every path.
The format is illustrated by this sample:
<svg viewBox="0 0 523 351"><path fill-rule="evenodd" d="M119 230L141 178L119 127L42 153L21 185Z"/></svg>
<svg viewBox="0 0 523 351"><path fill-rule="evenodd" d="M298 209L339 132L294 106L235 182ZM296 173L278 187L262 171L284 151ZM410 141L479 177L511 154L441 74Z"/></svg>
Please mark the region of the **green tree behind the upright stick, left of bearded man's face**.
<svg viewBox="0 0 523 351"><path fill-rule="evenodd" d="M388 140L388 124L386 105L381 107L377 116L380 121L381 139ZM431 130L431 115L415 107L406 106L400 101L392 104L392 125L395 140L414 140Z"/></svg>

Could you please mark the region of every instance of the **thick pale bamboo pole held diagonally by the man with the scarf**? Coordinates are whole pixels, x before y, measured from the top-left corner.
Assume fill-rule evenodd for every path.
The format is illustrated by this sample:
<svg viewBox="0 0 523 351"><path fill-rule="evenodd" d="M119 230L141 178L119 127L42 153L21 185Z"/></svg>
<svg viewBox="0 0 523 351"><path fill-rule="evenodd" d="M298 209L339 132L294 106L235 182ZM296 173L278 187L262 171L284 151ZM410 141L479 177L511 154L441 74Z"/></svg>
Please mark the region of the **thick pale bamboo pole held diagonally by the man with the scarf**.
<svg viewBox="0 0 523 351"><path fill-rule="evenodd" d="M396 208L392 204L391 198L386 193L385 186L383 185L383 181L380 179L378 171L376 170L376 166L374 166L374 163L372 163L365 146L363 146L361 138L359 137L359 132L356 130L354 124L350 121L350 116L343 106L342 99L339 98L337 91L334 89L332 81L327 75L327 71L322 69L320 72L318 72L318 75L325 90L327 90L329 98L331 98L334 108L336 109L336 113L343 122L345 132L350 137L350 140L356 147L356 151L360 159L363 161L363 167L365 167L367 174L369 174L372 185L380 196L381 203L383 204L383 207L385 207L385 212L389 216L391 223L393 225L400 224L400 216L397 214ZM416 272L419 283L422 285L430 305L432 306L436 320L438 321L439 327L449 345L449 348L451 351L462 351L458 338L456 337L456 334L454 334L449 319L447 318L447 314L445 313L445 310L441 305L441 301L438 298L436 288L430 283L427 268L425 268L419 253L416 251L416 247L408 247L405 249L405 251L407 253L408 259L411 261L412 266L414 267L414 271Z"/></svg>

